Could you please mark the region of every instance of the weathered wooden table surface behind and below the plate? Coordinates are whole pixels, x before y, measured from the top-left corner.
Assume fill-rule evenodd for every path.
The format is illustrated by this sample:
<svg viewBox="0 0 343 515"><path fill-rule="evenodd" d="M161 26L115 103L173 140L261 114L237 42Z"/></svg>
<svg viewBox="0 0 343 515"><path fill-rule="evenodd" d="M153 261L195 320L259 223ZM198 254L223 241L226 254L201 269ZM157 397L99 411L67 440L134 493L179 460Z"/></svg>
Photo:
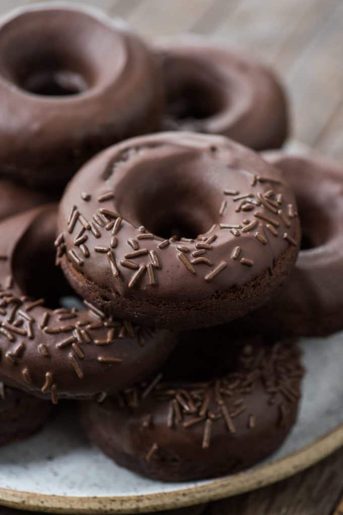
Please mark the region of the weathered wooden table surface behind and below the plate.
<svg viewBox="0 0 343 515"><path fill-rule="evenodd" d="M31 0L0 0L0 13ZM343 161L342 0L87 0L143 36L196 32L273 66L286 85L293 136ZM343 515L343 450L274 486L202 515ZM199 508L200 509L200 508ZM200 513L199 509L196 510ZM0 507L0 515L16 513ZM193 510L175 515L195 515Z"/></svg>

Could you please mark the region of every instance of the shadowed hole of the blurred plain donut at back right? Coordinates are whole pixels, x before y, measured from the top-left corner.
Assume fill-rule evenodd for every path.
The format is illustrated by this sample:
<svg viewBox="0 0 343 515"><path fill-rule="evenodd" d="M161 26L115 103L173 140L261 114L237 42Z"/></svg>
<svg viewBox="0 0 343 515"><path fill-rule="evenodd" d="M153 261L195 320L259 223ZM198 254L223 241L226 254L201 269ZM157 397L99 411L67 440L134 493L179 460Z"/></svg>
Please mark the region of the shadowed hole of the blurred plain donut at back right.
<svg viewBox="0 0 343 515"><path fill-rule="evenodd" d="M167 59L167 117L171 121L201 121L220 113L226 106L220 81L213 71L202 68L202 63L195 59Z"/></svg>

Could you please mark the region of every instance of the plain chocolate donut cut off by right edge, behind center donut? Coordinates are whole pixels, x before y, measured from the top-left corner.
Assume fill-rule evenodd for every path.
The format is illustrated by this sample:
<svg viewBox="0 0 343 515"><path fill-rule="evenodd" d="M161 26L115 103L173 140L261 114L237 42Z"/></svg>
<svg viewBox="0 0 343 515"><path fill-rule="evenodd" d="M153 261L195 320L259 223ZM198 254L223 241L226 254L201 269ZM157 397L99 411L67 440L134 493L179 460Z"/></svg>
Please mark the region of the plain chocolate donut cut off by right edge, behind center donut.
<svg viewBox="0 0 343 515"><path fill-rule="evenodd" d="M243 324L252 331L327 336L343 329L343 168L315 152L264 157L293 187L302 249L290 278Z"/></svg>

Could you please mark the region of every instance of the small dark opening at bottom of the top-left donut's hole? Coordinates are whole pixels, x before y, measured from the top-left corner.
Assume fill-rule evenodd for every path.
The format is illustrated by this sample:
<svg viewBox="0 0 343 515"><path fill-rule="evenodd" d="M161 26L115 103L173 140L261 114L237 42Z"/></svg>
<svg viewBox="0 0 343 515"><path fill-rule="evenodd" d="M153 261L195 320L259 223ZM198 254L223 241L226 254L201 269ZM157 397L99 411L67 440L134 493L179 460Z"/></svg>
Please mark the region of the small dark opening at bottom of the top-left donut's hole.
<svg viewBox="0 0 343 515"><path fill-rule="evenodd" d="M37 71L24 78L23 89L42 96L77 95L87 89L79 73L66 70Z"/></svg>

